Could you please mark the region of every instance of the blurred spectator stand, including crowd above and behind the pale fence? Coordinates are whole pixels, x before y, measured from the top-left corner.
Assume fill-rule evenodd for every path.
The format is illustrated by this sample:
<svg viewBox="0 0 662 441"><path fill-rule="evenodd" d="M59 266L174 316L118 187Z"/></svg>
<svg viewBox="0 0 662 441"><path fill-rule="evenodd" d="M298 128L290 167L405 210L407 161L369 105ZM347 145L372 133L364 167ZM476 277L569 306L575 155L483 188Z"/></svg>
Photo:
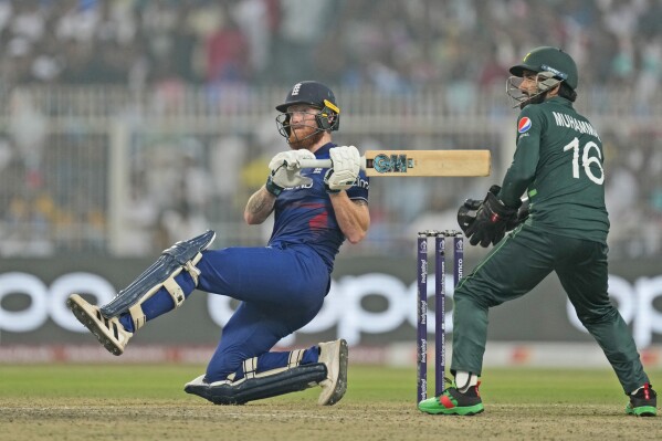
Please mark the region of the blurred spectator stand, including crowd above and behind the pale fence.
<svg viewBox="0 0 662 441"><path fill-rule="evenodd" d="M612 253L662 255L662 132L651 119L662 114L655 102L662 81L660 23L658 0L0 0L0 97L6 98L0 255L139 255L210 225L225 231L218 245L264 243L269 225L255 238L234 218L250 191L263 183L274 146L284 144L271 115L265 122L262 114L249 114L241 130L219 127L214 118L235 112L228 91L239 91L237 102L245 108L254 104L251 96L273 96L251 86L274 86L269 91L284 96L296 81L315 78L345 96L355 88L357 96L365 91L369 97L418 96L408 105L419 106L425 88L435 86L450 99L421 105L423 116L437 120L465 108L462 124L443 134L367 127L353 133L351 141L364 149L494 147L502 145L502 132L509 130L504 122L511 124L514 114L501 113L498 127L481 132L473 130L472 112L492 105L485 101L503 85L507 66L540 44L563 46L577 60L580 98L586 91L632 91L623 118L641 115L641 124L611 124L618 111L591 119L605 140L610 174ZM118 86L128 98L97 94L106 85ZM59 95L67 86L92 86L92 92ZM213 99L208 98L221 101L219 88L224 108L209 113L206 105ZM183 97L174 101L181 115L198 123L207 118L212 129L146 129L146 114L166 112L127 105L145 95L160 107L168 99L159 97ZM616 98L593 101L595 113L612 109L620 97L600 96ZM358 113L379 114L377 102L361 102ZM273 104L263 107L273 111ZM101 106L109 109L99 112L108 119L95 119ZM113 206L116 189L106 167L117 126L95 125L115 123L116 116L130 132L125 139L129 197L123 206ZM493 151L501 174L498 155ZM353 250L401 251L409 243L398 242L393 231L413 240L420 229L452 228L458 204L488 187L455 179L437 191L421 181L391 181L371 190L371 232ZM109 243L117 211L126 227L122 243Z"/></svg>

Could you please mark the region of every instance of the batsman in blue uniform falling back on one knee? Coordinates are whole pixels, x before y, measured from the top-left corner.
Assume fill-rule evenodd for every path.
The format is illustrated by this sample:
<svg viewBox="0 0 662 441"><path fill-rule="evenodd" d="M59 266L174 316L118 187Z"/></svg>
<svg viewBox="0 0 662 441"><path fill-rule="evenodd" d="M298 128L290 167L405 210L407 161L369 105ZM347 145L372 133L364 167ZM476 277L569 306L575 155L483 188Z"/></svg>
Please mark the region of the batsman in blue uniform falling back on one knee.
<svg viewBox="0 0 662 441"><path fill-rule="evenodd" d="M244 210L249 224L274 213L266 246L208 250L214 238L208 231L164 251L106 305L92 305L77 294L67 300L76 318L115 355L147 322L180 306L196 288L241 301L207 371L185 386L216 405L241 405L312 386L322 387L319 405L334 405L347 388L344 339L270 350L317 315L345 239L358 243L365 238L369 180L357 148L332 143L340 109L327 86L297 83L276 109L279 132L290 149L273 157L266 183ZM302 159L330 159L332 167L303 169Z"/></svg>

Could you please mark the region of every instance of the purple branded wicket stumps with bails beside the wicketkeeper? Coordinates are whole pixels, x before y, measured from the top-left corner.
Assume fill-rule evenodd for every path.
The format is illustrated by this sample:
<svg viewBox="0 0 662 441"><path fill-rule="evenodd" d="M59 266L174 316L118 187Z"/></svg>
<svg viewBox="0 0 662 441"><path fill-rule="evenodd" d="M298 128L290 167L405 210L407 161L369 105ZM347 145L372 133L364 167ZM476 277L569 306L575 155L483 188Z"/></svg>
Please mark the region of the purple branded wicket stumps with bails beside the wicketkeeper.
<svg viewBox="0 0 662 441"><path fill-rule="evenodd" d="M462 279L464 239L461 231L418 233L417 259L417 405L428 398L428 238L434 238L434 396L444 389L445 372L445 239L453 238L453 286Z"/></svg>

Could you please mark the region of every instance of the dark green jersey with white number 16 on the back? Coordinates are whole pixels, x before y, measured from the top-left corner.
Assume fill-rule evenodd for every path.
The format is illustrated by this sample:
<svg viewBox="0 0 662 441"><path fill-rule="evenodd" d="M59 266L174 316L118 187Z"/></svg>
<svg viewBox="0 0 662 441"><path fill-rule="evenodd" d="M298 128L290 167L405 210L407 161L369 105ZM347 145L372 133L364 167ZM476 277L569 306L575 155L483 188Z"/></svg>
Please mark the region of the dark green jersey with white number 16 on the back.
<svg viewBox="0 0 662 441"><path fill-rule="evenodd" d="M528 105L517 119L517 148L500 198L516 207L527 191L532 224L606 243L602 162L600 137L572 103L556 96Z"/></svg>

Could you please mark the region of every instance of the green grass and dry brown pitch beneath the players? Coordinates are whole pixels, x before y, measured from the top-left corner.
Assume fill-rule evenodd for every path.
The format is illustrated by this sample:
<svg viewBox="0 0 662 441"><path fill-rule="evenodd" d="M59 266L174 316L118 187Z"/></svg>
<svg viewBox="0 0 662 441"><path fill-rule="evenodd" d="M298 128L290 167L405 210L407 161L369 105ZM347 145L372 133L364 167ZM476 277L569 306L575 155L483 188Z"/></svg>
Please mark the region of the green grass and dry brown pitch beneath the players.
<svg viewBox="0 0 662 441"><path fill-rule="evenodd" d="M419 412L413 368L351 365L347 395L324 408L316 406L318 388L213 406L182 390L202 371L180 365L0 365L0 439L423 440L439 439L440 431L455 439L662 438L660 417L624 414L627 398L607 369L486 369L485 412L464 418ZM653 385L662 379L660 370L649 375Z"/></svg>

